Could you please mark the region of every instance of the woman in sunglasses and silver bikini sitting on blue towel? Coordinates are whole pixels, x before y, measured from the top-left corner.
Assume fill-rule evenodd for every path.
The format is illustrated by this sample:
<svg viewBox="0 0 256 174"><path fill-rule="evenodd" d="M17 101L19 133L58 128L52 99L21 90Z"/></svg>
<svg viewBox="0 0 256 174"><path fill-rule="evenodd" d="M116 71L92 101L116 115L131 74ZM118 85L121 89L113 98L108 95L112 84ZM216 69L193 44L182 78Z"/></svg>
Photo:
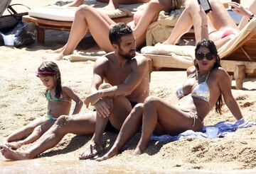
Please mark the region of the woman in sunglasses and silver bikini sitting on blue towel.
<svg viewBox="0 0 256 174"><path fill-rule="evenodd" d="M202 23L208 18L201 9ZM178 88L177 105L171 105L158 97L149 96L144 104L137 104L124 121L112 149L97 161L106 160L119 153L124 144L142 125L142 136L134 150L135 155L144 152L152 134L177 135L188 129L200 132L203 120L210 110L221 113L223 99L236 120L242 119L238 103L231 93L228 73L220 66L217 48L208 37L208 28L201 29L204 38L196 45L194 66L187 69L187 79Z"/></svg>

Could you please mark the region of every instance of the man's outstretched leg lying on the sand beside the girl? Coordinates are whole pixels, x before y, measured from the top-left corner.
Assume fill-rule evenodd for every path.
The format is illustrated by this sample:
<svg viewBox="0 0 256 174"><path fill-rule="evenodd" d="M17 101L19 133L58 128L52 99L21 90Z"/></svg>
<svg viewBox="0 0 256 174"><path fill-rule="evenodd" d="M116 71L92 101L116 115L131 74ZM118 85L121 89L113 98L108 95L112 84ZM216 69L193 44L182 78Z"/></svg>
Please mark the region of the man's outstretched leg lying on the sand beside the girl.
<svg viewBox="0 0 256 174"><path fill-rule="evenodd" d="M95 112L87 115L76 115L74 117L60 116L53 124L53 127L43 134L34 144L31 149L27 151L13 151L4 146L1 150L3 156L11 160L23 160L35 158L43 151L46 151L60 142L65 134L92 134L95 132Z"/></svg>

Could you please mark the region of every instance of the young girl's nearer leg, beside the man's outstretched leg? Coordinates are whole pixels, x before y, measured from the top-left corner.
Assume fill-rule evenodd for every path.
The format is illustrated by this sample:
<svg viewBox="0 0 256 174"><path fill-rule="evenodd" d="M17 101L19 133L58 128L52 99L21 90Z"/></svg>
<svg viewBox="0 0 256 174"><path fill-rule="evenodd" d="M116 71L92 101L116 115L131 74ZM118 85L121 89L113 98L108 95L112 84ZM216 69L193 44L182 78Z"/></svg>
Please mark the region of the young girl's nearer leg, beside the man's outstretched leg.
<svg viewBox="0 0 256 174"><path fill-rule="evenodd" d="M8 146L11 147L11 149L18 149L19 147L25 144L33 143L33 141L39 139L42 136L42 134L44 134L48 129L50 129L54 122L55 120L48 120L43 124L38 125L35 129L33 129L32 134L26 137L26 139L8 144Z"/></svg>

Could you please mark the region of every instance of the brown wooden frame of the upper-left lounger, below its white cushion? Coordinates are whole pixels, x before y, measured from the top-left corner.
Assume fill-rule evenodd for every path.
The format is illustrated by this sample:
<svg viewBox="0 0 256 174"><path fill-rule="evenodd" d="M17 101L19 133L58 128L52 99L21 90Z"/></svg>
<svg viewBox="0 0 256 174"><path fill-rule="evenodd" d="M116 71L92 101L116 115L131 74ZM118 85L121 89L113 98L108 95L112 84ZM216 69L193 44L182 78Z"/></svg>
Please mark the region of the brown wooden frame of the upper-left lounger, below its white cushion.
<svg viewBox="0 0 256 174"><path fill-rule="evenodd" d="M120 18L112 18L112 20L116 23L129 23L133 20L132 16L124 16ZM23 16L22 18L23 22L29 23L35 23L36 25L36 31L37 31L37 39L38 42L43 43L45 41L45 30L46 29L53 29L53 30L68 30L70 31L72 27L72 21L53 21L49 19L43 19L43 18L35 18L31 16Z"/></svg>

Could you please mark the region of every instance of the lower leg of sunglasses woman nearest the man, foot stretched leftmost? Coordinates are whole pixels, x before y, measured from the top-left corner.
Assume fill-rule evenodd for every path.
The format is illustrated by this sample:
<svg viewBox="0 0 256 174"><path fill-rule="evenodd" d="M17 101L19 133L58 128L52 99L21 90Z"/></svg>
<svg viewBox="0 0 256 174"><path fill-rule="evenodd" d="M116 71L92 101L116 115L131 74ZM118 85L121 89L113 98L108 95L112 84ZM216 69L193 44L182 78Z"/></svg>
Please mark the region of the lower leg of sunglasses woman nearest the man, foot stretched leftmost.
<svg viewBox="0 0 256 174"><path fill-rule="evenodd" d="M108 151L105 156L101 158L97 158L97 161L103 161L112 156L119 153L119 151L124 147L124 145L129 141L129 139L138 132L140 125L142 124L142 112L143 112L143 104L139 103L135 105L132 111L129 113L126 120L124 120L124 124L120 129L120 132L117 136L116 141L114 141L114 145Z"/></svg>

